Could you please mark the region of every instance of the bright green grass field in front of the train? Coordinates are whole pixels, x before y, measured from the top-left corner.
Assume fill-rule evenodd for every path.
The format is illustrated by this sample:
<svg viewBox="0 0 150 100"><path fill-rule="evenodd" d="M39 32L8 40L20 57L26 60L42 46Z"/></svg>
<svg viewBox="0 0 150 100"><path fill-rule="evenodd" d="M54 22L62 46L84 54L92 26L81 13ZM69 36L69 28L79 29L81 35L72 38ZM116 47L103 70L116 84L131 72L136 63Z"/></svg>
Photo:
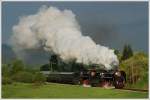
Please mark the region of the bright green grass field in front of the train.
<svg viewBox="0 0 150 100"><path fill-rule="evenodd" d="M148 98L147 92L48 83L2 85L2 98Z"/></svg>

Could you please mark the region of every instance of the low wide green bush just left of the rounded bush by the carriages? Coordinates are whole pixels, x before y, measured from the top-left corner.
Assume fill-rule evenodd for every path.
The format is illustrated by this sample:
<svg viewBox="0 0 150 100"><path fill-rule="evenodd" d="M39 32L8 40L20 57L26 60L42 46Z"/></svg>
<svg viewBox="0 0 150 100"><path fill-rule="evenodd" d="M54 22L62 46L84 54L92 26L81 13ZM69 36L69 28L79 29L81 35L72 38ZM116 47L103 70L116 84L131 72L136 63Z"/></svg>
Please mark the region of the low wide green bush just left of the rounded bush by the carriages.
<svg viewBox="0 0 150 100"><path fill-rule="evenodd" d="M30 72L18 72L12 76L12 79L17 82L24 82L24 83L32 83L33 82L33 74Z"/></svg>

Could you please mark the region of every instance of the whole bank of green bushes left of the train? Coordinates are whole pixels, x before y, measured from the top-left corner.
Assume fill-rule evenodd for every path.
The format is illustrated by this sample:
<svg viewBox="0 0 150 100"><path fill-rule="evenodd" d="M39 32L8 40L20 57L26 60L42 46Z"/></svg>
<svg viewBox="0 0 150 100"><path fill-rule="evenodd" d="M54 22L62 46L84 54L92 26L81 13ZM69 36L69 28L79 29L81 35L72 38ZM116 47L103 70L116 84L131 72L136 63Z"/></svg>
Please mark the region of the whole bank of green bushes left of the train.
<svg viewBox="0 0 150 100"><path fill-rule="evenodd" d="M10 64L2 64L2 84L24 82L43 84L45 76L38 69L25 67L22 60L14 60Z"/></svg>

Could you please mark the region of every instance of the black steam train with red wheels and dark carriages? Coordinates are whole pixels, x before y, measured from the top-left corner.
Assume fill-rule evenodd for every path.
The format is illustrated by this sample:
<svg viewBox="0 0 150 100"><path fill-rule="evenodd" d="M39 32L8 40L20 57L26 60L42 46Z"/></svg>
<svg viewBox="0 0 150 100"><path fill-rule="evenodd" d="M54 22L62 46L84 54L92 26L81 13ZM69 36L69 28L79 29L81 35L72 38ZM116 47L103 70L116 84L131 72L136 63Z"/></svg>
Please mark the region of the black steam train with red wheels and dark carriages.
<svg viewBox="0 0 150 100"><path fill-rule="evenodd" d="M84 68L80 65L75 66L51 66L43 65L41 72L47 77L48 82L70 83L70 84L89 84L97 86L115 86L123 88L126 82L126 73L124 71L104 70L98 65L92 65L91 68Z"/></svg>

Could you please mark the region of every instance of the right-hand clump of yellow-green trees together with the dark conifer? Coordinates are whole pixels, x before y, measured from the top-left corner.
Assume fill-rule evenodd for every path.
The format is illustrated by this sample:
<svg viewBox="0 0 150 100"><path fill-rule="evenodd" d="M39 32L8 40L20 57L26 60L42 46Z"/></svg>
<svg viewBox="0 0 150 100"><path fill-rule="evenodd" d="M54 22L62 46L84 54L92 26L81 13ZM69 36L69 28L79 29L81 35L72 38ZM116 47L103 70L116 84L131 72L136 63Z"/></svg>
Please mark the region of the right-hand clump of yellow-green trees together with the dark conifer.
<svg viewBox="0 0 150 100"><path fill-rule="evenodd" d="M123 52L115 50L120 65L119 69L127 74L127 86L148 88L148 56L144 52L133 52L130 45L125 45Z"/></svg>

